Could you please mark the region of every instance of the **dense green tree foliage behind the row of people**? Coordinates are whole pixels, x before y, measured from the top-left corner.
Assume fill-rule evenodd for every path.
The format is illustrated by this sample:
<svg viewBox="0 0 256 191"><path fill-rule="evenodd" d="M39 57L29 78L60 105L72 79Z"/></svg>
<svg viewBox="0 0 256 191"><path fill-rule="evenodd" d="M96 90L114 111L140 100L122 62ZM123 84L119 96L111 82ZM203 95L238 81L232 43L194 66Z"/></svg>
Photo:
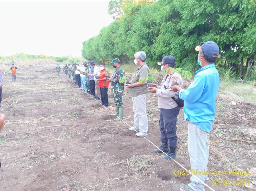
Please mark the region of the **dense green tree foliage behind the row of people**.
<svg viewBox="0 0 256 191"><path fill-rule="evenodd" d="M111 0L109 13L114 22L83 42L84 58L128 62L142 50L151 67L173 55L176 66L195 71L195 46L212 40L221 51L218 67L238 66L243 59L248 68L254 63L255 0Z"/></svg>

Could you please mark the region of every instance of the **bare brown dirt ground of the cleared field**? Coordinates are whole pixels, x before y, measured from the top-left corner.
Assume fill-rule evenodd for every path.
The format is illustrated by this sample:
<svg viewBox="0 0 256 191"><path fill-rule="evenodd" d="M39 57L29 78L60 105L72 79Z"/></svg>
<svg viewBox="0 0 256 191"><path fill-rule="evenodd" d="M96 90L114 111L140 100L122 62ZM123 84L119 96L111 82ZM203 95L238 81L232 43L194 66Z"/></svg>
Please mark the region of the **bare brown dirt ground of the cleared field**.
<svg viewBox="0 0 256 191"><path fill-rule="evenodd" d="M108 109L78 89L56 63L24 66L17 82L5 74L1 112L6 124L0 132L0 190L141 190L177 191L189 175L154 146L135 136L124 122L114 121L109 88ZM216 120L210 133L208 170L250 171L251 175L212 175L205 183L216 191L256 190L256 106L218 96ZM147 139L157 146L159 110L150 94ZM133 125L132 100L124 93L124 121ZM176 161L190 169L187 123L179 114ZM244 180L248 185L212 186L212 180ZM244 182L241 182L241 184ZM206 190L210 190L206 188Z"/></svg>

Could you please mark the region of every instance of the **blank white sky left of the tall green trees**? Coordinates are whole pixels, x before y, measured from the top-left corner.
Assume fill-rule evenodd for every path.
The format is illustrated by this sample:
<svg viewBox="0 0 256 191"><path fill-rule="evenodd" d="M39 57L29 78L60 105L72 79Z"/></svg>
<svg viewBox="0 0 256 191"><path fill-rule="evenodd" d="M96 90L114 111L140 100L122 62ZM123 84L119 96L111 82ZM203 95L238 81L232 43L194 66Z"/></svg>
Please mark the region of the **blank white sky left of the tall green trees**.
<svg viewBox="0 0 256 191"><path fill-rule="evenodd" d="M81 56L83 41L113 22L108 2L0 1L0 55Z"/></svg>

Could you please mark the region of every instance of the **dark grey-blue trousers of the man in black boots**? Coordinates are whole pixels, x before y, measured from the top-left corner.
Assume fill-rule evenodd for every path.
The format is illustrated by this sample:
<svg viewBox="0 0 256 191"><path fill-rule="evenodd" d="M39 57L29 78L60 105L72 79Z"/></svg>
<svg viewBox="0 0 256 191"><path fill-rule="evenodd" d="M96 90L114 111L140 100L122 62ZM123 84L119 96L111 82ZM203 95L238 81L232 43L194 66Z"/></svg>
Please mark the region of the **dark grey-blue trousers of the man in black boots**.
<svg viewBox="0 0 256 191"><path fill-rule="evenodd" d="M173 109L160 109L159 127L161 131L160 140L167 142L169 147L176 147L178 136L176 133L176 122L178 121L178 114L180 107Z"/></svg>

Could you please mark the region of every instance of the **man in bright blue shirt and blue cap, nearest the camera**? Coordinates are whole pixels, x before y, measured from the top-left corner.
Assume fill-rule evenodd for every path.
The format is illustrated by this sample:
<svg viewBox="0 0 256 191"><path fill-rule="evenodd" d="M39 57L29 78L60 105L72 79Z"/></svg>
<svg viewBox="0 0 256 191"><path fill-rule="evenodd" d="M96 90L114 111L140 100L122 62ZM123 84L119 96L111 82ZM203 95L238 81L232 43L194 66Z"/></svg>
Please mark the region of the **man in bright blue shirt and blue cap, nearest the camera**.
<svg viewBox="0 0 256 191"><path fill-rule="evenodd" d="M188 121L188 152L191 172L207 171L209 156L209 132L215 116L215 100L219 90L219 73L214 63L219 58L219 47L213 41L201 43L196 47L198 64L202 67L196 71L191 85L171 86L172 91L179 91L184 100L184 121ZM191 183L180 188L180 191L204 191L204 180L207 175L193 175Z"/></svg>

